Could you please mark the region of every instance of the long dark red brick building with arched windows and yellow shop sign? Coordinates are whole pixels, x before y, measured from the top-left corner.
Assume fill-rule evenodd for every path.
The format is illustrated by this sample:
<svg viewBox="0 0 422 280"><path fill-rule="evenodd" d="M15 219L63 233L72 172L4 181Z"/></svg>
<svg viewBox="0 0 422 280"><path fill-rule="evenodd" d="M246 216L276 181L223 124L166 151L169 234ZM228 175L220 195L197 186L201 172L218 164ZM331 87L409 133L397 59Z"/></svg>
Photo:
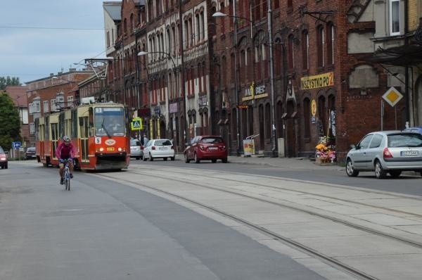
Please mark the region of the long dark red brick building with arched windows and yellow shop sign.
<svg viewBox="0 0 422 280"><path fill-rule="evenodd" d="M420 124L420 61L411 70L411 58L385 65L373 56L378 46L409 42L420 6L123 1L108 46L109 87L114 101L144 118L144 133L174 139L179 149L195 134L221 134L232 154L252 137L256 153L312 156L326 136L341 159L367 132ZM383 99L390 87L404 96L395 107Z"/></svg>

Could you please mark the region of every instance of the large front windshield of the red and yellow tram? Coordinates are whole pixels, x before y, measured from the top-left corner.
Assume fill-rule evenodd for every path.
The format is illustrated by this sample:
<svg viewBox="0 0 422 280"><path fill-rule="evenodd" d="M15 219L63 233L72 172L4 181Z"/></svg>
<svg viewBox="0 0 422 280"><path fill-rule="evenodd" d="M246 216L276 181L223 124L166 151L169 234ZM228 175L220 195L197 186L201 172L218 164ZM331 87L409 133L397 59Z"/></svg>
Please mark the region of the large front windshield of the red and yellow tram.
<svg viewBox="0 0 422 280"><path fill-rule="evenodd" d="M96 136L124 136L123 108L96 107L94 122Z"/></svg>

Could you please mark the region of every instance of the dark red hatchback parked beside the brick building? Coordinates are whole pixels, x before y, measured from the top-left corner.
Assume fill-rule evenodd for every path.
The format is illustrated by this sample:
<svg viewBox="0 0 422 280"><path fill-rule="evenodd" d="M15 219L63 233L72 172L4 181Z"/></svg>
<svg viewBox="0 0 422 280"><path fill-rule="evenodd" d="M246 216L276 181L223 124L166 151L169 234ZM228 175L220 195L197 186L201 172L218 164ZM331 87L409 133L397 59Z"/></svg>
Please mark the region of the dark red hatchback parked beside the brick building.
<svg viewBox="0 0 422 280"><path fill-rule="evenodd" d="M214 135L196 136L184 151L185 163L190 163L191 160L196 163L201 160L211 160L212 163L222 160L227 163L227 155L229 151L222 137Z"/></svg>

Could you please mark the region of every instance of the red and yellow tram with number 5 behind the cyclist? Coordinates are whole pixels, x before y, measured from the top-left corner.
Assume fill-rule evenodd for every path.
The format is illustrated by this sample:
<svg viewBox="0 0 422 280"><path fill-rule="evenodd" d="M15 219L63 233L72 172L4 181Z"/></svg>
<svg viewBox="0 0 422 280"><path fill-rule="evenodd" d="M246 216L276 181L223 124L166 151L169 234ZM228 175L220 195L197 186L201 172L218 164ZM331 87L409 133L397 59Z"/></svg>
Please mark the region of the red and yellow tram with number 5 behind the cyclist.
<svg viewBox="0 0 422 280"><path fill-rule="evenodd" d="M56 148L72 137L81 170L121 170L129 166L129 114L122 104L92 103L61 110L35 120L36 154L44 166L58 165Z"/></svg>

